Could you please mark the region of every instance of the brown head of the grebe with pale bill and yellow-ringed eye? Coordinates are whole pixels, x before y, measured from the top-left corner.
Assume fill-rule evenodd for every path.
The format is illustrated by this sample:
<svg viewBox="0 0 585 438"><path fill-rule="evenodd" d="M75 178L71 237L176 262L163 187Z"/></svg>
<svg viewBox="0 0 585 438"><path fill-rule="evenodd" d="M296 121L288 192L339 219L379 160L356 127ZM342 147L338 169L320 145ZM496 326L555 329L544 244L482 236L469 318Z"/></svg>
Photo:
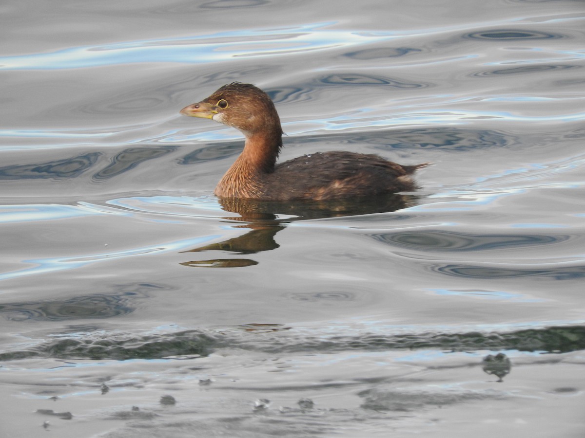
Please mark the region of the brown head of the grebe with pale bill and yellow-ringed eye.
<svg viewBox="0 0 585 438"><path fill-rule="evenodd" d="M232 82L223 85L207 99L185 106L181 114L232 126L246 137L259 131L278 131L278 134L282 134L274 103L266 93L252 84Z"/></svg>

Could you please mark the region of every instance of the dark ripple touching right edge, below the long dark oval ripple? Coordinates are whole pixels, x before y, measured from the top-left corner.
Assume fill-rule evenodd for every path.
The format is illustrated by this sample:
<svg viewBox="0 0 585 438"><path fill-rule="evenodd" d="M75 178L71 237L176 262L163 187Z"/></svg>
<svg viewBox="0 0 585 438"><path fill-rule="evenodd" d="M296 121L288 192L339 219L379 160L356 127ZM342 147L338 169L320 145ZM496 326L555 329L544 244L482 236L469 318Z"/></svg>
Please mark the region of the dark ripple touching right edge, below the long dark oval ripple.
<svg viewBox="0 0 585 438"><path fill-rule="evenodd" d="M546 265L550 266L550 265ZM580 280L585 278L585 266L559 266L558 268L497 267L473 265L437 265L432 268L452 277L467 279L513 279L521 277L541 277L548 280Z"/></svg>

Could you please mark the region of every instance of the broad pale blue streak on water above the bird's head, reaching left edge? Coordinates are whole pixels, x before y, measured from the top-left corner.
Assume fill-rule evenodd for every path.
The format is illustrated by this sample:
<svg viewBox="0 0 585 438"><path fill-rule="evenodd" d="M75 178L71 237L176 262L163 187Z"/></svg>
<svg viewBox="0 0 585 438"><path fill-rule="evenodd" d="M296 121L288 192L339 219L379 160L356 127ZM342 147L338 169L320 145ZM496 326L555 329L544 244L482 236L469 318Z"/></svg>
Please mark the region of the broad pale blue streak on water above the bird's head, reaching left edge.
<svg viewBox="0 0 585 438"><path fill-rule="evenodd" d="M51 53L0 57L0 69L62 69L136 62L202 64L236 56L274 56L298 51L374 43L393 38L342 30L318 30L331 22L267 30L236 30L199 36L71 47ZM191 43L190 43L191 42Z"/></svg>

